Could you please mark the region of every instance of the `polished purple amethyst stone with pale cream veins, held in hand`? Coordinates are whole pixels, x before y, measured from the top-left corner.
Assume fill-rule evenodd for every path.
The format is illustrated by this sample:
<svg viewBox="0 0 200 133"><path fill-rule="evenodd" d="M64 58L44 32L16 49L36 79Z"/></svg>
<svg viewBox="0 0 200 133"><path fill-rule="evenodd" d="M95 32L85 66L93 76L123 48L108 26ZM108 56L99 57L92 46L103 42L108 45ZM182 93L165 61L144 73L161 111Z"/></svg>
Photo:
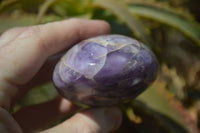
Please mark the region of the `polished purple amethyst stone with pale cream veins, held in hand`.
<svg viewBox="0 0 200 133"><path fill-rule="evenodd" d="M158 66L144 44L104 35L74 45L56 65L53 81L60 95L71 101L109 106L143 92L156 79Z"/></svg>

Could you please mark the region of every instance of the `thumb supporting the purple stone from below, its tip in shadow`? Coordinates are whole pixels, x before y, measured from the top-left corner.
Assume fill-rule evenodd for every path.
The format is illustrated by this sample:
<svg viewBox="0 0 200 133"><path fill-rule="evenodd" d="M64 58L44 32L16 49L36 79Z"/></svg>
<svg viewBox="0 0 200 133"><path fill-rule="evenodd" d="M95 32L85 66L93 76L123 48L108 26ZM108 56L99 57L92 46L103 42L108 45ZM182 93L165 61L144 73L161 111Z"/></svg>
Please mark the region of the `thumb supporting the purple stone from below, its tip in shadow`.
<svg viewBox="0 0 200 133"><path fill-rule="evenodd" d="M116 130L122 113L116 107L88 109L41 133L108 133Z"/></svg>

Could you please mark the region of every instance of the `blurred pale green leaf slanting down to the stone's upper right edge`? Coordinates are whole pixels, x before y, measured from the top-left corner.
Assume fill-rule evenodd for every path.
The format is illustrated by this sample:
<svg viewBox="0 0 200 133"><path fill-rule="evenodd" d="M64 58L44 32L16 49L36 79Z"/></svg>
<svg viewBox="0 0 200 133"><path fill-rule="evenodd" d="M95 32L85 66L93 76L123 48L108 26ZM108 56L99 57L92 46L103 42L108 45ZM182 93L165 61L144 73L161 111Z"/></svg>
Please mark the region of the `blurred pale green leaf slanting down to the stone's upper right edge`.
<svg viewBox="0 0 200 133"><path fill-rule="evenodd" d="M133 17L131 12L123 3L119 3L114 0L95 0L94 4L100 6L101 8L110 10L114 15L127 24L136 37L144 41L146 44L150 44L151 41L147 35L145 26Z"/></svg>

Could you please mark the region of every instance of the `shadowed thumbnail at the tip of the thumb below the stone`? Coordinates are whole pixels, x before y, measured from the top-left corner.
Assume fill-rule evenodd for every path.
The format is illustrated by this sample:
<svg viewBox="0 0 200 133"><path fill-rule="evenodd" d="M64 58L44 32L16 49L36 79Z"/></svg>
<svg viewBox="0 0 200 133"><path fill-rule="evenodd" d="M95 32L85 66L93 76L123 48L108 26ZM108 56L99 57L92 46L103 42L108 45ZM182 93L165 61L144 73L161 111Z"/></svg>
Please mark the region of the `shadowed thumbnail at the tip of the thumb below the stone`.
<svg viewBox="0 0 200 133"><path fill-rule="evenodd" d="M107 113L108 116L107 117L109 119L110 122L113 122L113 126L112 128L110 128L111 131L116 130L120 127L121 123L122 123L122 112L119 108L117 107L111 107L108 108L105 113Z"/></svg>

